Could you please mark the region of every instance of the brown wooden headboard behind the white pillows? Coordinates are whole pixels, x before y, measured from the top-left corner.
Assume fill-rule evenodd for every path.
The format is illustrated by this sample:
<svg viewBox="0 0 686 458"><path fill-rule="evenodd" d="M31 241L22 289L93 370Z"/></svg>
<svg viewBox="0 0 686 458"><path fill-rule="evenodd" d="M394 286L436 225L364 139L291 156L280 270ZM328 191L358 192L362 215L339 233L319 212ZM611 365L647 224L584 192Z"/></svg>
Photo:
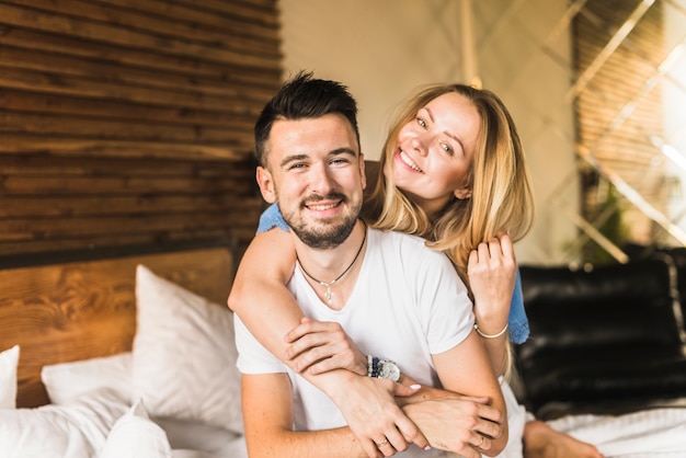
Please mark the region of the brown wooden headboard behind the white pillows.
<svg viewBox="0 0 686 458"><path fill-rule="evenodd" d="M226 305L233 279L233 253L230 244L172 245L149 254L0 270L0 351L14 344L21 347L18 408L49 402L41 381L44 365L132 350L138 264Z"/></svg>

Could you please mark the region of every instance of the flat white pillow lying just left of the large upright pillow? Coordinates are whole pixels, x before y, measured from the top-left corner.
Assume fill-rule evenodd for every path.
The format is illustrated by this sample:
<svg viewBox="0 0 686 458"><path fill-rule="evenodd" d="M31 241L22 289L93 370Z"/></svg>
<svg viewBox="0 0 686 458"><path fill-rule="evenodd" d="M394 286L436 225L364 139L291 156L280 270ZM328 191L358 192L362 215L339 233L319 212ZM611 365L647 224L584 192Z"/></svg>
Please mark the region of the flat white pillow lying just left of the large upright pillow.
<svg viewBox="0 0 686 458"><path fill-rule="evenodd" d="M43 366L41 379L53 404L67 404L85 392L111 388L132 397L132 353Z"/></svg>

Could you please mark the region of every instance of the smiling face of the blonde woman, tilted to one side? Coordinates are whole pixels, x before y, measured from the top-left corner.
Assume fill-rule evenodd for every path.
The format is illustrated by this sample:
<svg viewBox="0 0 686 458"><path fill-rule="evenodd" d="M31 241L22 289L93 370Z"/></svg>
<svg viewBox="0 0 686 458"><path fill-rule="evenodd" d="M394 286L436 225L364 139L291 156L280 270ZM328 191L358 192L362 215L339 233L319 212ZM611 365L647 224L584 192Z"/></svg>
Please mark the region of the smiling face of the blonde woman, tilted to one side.
<svg viewBox="0 0 686 458"><path fill-rule="evenodd" d="M449 92L422 107L398 134L391 161L396 185L430 216L453 197L467 198L480 118L476 106Z"/></svg>

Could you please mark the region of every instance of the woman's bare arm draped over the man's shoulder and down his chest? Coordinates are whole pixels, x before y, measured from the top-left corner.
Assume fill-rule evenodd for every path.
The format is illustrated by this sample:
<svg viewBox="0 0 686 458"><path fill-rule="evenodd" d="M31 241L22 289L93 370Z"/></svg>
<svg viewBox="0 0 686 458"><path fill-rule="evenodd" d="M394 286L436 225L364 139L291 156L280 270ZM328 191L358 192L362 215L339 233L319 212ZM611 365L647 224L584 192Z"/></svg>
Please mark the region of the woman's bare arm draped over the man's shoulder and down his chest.
<svg viewBox="0 0 686 458"><path fill-rule="evenodd" d="M228 305L260 343L297 371L298 359L286 356L285 340L288 331L304 318L286 287L295 262L290 233L275 228L258 234L240 262ZM414 442L420 447L427 444L393 398L413 390L398 386L393 387L395 391L384 391L374 385L375 380L366 377L366 373L361 376L343 369L301 375L331 398L361 443L365 444L369 456L376 454L369 445L373 434L396 437L398 448L401 440Z"/></svg>

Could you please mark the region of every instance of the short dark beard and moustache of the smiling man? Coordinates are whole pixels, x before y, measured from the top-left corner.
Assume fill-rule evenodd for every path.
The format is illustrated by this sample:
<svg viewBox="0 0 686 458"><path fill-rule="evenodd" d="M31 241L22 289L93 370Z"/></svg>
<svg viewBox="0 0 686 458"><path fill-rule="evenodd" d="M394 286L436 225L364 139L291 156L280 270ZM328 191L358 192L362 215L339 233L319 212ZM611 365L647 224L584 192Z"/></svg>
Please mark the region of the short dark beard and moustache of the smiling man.
<svg viewBox="0 0 686 458"><path fill-rule="evenodd" d="M332 197L341 198L342 204L348 203L348 201L341 195L327 196L325 198ZM300 208L304 207L305 204L301 204ZM333 219L320 219L317 225L312 225L304 221L301 218L298 218L295 213L288 215L282 213L282 215L302 243L316 250L329 250L347 240L351 232L355 228L361 208L362 204L351 207L351 211L339 224L335 224Z"/></svg>

